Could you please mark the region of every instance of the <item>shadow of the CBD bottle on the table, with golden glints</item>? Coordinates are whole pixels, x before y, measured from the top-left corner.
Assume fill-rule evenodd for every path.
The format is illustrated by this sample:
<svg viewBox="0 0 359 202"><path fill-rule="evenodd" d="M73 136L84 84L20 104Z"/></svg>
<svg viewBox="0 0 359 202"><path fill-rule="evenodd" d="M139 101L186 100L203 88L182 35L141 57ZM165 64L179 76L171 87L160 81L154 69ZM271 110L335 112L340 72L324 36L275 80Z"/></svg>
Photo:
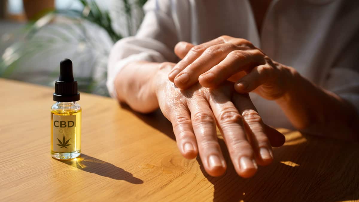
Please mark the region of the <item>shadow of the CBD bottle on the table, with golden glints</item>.
<svg viewBox="0 0 359 202"><path fill-rule="evenodd" d="M94 173L115 180L124 180L132 184L143 183L143 180L134 177L131 173L123 170L122 168L85 154L81 154L81 156L76 159L61 162L88 173Z"/></svg>

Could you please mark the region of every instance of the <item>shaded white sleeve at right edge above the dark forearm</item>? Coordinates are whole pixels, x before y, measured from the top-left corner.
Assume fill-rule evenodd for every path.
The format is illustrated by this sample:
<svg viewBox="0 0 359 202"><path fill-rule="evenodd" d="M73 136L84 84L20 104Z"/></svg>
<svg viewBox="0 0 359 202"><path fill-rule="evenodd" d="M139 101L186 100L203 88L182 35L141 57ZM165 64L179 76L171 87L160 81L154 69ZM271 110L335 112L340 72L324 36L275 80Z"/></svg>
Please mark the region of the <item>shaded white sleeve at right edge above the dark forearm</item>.
<svg viewBox="0 0 359 202"><path fill-rule="evenodd" d="M331 69L324 87L353 104L359 113L358 69L336 67Z"/></svg>

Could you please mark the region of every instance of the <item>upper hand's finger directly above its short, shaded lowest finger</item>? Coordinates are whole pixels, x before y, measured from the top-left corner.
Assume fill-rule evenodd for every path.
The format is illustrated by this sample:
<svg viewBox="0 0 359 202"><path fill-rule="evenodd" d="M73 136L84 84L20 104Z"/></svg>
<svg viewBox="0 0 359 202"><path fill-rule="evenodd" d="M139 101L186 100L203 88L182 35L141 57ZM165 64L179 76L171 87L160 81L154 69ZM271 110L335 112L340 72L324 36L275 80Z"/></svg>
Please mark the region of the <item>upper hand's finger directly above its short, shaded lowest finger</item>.
<svg viewBox="0 0 359 202"><path fill-rule="evenodd" d="M215 87L232 75L261 64L265 64L265 60L260 50L234 50L219 64L200 75L198 81L204 87Z"/></svg>

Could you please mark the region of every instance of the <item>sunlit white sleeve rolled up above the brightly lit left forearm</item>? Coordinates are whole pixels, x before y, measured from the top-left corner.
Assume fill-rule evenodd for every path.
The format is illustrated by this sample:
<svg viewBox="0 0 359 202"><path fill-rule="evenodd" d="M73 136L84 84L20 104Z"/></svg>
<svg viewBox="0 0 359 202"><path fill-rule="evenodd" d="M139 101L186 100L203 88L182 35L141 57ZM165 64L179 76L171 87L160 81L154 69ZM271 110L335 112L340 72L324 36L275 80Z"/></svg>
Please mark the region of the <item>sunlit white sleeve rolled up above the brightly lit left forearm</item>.
<svg viewBox="0 0 359 202"><path fill-rule="evenodd" d="M178 42L171 15L171 1L149 0L145 17L136 36L119 40L113 46L107 65L107 88L116 98L115 78L121 69L134 61L177 61L174 46Z"/></svg>

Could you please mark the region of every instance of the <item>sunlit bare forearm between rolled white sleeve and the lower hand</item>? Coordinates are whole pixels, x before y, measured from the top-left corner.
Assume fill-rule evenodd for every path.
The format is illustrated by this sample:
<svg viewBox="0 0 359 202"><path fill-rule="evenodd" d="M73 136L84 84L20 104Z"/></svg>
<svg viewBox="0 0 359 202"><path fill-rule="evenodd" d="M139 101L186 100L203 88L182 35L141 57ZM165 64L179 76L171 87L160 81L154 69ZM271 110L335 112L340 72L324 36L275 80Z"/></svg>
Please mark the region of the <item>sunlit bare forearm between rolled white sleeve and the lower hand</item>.
<svg viewBox="0 0 359 202"><path fill-rule="evenodd" d="M129 63L123 67L115 79L117 99L125 102L133 110L149 113L158 108L153 86L159 63L145 61Z"/></svg>

